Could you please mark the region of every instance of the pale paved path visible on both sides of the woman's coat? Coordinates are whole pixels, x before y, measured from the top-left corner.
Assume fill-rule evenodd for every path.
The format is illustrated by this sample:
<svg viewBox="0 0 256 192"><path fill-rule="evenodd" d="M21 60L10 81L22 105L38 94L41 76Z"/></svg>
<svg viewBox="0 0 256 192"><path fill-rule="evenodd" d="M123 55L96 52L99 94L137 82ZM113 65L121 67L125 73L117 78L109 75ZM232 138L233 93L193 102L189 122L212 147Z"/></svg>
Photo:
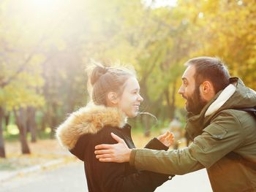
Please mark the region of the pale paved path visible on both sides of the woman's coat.
<svg viewBox="0 0 256 192"><path fill-rule="evenodd" d="M1 192L80 192L88 191L84 180L83 163L75 162L57 169L48 169L19 176L0 183ZM157 188L157 192L210 192L206 170L176 176Z"/></svg>

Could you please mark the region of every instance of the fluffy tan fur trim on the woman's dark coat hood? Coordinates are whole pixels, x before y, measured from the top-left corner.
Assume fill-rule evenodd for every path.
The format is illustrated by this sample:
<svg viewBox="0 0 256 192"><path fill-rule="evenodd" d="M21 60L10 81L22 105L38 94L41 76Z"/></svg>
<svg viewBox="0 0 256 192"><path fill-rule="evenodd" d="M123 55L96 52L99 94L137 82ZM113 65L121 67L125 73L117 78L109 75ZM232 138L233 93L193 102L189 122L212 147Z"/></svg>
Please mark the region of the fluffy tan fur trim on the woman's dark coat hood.
<svg viewBox="0 0 256 192"><path fill-rule="evenodd" d="M122 128L127 123L124 112L116 107L87 105L80 108L56 129L56 137L63 147L71 150L83 134L96 134L104 126Z"/></svg>

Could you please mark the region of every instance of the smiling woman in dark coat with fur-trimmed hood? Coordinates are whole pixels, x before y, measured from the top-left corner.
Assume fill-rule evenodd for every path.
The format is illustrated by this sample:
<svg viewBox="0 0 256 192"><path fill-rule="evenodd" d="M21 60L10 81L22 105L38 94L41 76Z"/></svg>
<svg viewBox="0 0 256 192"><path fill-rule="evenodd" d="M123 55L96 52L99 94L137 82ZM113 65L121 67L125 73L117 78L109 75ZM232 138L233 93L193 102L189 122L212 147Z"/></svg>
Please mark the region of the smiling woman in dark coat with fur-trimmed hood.
<svg viewBox="0 0 256 192"><path fill-rule="evenodd" d="M140 86L135 72L125 68L96 65L89 75L92 101L86 107L73 112L57 128L56 136L64 147L84 161L89 191L154 191L170 175L138 171L129 163L101 163L94 154L94 147L102 143L114 144L114 133L124 139L130 148L135 147L127 118L138 115ZM164 134L159 139L170 145L173 136ZM146 147L167 150L154 138Z"/></svg>

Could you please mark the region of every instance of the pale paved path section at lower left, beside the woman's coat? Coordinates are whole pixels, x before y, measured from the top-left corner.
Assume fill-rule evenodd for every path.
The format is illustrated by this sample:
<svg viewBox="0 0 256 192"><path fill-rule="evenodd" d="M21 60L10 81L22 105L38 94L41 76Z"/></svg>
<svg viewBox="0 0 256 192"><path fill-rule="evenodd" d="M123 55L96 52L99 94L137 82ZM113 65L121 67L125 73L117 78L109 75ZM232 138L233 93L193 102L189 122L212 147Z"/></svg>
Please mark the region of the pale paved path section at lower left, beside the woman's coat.
<svg viewBox="0 0 256 192"><path fill-rule="evenodd" d="M88 191L83 163L69 163L15 177L0 183L1 192L79 192Z"/></svg>

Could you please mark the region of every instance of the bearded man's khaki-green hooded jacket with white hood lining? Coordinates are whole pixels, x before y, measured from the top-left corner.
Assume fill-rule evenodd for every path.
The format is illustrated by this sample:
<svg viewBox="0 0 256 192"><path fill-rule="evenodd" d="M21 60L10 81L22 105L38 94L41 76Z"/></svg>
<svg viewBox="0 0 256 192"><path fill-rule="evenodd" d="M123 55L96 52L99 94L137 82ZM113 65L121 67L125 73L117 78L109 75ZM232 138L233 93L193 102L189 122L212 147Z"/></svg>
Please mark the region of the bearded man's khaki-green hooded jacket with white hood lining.
<svg viewBox="0 0 256 192"><path fill-rule="evenodd" d="M165 174L187 174L207 169L213 191L256 191L256 171L230 152L256 163L256 120L248 112L255 107L256 94L236 77L210 101L200 115L188 115L187 131L194 138L180 150L132 150L130 161L138 169ZM198 181L198 185L200 185ZM171 188L170 188L171 190Z"/></svg>

